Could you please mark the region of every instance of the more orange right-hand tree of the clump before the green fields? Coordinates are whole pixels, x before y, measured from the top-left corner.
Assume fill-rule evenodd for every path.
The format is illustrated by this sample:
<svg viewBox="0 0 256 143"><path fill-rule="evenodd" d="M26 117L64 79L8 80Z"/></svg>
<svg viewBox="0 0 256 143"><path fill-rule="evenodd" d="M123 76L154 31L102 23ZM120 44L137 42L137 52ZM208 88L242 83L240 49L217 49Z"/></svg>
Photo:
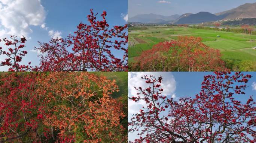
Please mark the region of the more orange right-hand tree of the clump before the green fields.
<svg viewBox="0 0 256 143"><path fill-rule="evenodd" d="M172 50L178 71L226 70L220 51L205 45L200 37L180 36Z"/></svg>

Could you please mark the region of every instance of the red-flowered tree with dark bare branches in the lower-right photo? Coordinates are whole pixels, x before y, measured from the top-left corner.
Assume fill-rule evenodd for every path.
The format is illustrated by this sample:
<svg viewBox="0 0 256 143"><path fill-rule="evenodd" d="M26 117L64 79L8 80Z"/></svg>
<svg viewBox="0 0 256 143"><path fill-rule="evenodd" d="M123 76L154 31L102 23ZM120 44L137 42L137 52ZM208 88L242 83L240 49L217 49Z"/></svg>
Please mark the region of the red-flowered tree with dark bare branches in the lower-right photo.
<svg viewBox="0 0 256 143"><path fill-rule="evenodd" d="M132 115L130 132L139 131L136 143L255 143L256 111L252 96L241 103L250 75L215 72L202 82L195 98L179 101L162 95L162 77L144 76L148 88L131 100L146 102Z"/></svg>

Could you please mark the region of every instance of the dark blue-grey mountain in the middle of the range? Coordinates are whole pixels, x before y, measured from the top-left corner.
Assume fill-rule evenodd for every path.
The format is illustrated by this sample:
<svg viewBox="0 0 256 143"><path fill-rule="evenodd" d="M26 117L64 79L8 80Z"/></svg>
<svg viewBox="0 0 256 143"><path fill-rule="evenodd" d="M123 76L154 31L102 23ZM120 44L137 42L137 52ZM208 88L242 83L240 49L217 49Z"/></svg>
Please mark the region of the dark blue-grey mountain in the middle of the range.
<svg viewBox="0 0 256 143"><path fill-rule="evenodd" d="M191 14L189 16L185 16L180 18L175 22L176 24L193 24L193 23L202 23L202 22L210 22L220 20L219 16L211 14L209 12L199 12L196 14Z"/></svg>

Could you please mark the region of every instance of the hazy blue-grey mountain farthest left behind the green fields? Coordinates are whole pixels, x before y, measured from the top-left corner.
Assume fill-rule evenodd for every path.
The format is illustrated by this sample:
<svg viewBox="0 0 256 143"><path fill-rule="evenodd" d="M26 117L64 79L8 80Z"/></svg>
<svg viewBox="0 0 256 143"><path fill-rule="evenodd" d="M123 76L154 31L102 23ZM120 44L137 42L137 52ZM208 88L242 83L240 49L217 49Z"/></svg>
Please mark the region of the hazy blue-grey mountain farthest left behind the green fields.
<svg viewBox="0 0 256 143"><path fill-rule="evenodd" d="M165 23L167 21L173 21L179 18L180 15L162 16L155 15L153 13L136 15L128 19L129 22L142 22L142 23Z"/></svg>

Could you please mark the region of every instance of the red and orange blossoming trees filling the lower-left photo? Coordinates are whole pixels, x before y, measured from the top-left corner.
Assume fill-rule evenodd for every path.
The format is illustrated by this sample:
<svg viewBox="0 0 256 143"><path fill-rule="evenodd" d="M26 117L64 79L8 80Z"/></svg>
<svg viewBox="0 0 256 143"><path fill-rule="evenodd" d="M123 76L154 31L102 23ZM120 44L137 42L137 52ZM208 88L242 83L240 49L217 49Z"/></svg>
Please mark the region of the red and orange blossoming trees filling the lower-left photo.
<svg viewBox="0 0 256 143"><path fill-rule="evenodd" d="M127 142L127 96L113 98L118 90L88 72L2 73L0 142Z"/></svg>

